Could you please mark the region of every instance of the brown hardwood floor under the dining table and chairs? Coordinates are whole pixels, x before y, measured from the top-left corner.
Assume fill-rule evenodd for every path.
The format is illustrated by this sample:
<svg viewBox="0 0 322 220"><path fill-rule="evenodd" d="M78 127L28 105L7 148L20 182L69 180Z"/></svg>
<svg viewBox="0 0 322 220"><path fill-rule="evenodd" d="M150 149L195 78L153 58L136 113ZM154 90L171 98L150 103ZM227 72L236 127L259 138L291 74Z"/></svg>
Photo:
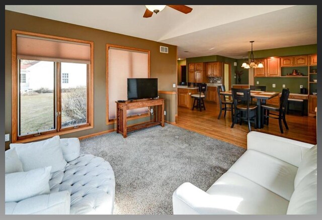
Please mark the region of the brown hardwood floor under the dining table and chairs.
<svg viewBox="0 0 322 220"><path fill-rule="evenodd" d="M221 118L218 120L219 104L205 102L205 106L206 111L203 110L202 112L199 109L198 111L196 109L192 111L188 108L178 107L176 126L246 149L247 134L249 132L247 123L235 124L233 128L230 128L231 114L229 111L227 111L226 118L223 117L224 112L222 112ZM270 119L269 126L264 126L262 129L254 129L252 125L252 131L316 144L315 117L286 115L286 122L289 130L286 130L283 126L284 134L280 133L278 120L275 119Z"/></svg>

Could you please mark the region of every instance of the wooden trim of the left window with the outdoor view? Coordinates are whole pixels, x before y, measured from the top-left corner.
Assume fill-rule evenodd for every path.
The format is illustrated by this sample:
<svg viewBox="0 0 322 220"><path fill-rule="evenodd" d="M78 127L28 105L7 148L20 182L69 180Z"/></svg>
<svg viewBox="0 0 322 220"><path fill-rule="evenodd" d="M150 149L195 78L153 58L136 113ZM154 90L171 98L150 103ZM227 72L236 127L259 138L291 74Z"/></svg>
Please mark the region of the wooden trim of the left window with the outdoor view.
<svg viewBox="0 0 322 220"><path fill-rule="evenodd" d="M57 117L57 123L56 126L59 127L58 129L54 131L48 131L43 132L40 136L24 136L22 138L18 138L18 60L17 60L17 34L23 34L23 35L30 35L35 37L43 37L43 38L49 38L49 39L55 39L55 40L63 40L63 41L70 41L74 43L85 43L90 45L90 57L91 62L88 64L88 92L87 92L87 98L88 98L88 104L87 104L87 122L86 124L79 125L77 128L73 127L67 127L63 129L60 128L61 123L61 117ZM18 30L12 30L12 39L11 39L11 49L12 49L12 143L27 143L32 141L38 141L46 138L50 138L56 135L64 135L79 131L84 131L87 129L94 128L94 42L92 41L86 41L86 40L79 40L79 39L72 39L72 38L65 38L65 37L58 37L58 36L51 36L51 35L45 35L45 34L38 34L38 33L32 33L32 32L25 32L25 31L18 31ZM57 76L59 79L56 81L56 98L60 98L60 75ZM59 101L58 101L59 103ZM61 106L56 106L57 111L58 109L61 110ZM61 112L61 111L60 111Z"/></svg>

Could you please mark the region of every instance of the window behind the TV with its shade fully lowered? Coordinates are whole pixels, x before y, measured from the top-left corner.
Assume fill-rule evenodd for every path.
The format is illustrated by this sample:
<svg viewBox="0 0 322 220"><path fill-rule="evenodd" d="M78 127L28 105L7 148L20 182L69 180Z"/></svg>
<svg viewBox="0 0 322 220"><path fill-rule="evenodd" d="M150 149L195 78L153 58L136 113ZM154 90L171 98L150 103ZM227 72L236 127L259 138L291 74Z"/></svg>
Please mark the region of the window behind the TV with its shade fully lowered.
<svg viewBox="0 0 322 220"><path fill-rule="evenodd" d="M106 123L113 124L116 119L115 101L127 99L127 78L147 78L150 76L150 51L109 44L106 51L108 64ZM130 109L127 111L127 116L146 117L148 109L146 107Z"/></svg>

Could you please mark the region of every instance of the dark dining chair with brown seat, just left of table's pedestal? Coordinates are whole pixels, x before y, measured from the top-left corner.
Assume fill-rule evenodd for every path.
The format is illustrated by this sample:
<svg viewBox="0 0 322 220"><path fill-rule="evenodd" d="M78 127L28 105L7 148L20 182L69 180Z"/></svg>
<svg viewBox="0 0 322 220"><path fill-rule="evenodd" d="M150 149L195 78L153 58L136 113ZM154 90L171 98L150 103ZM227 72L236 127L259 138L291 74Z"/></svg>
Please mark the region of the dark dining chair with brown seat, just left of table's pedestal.
<svg viewBox="0 0 322 220"><path fill-rule="evenodd" d="M239 119L240 125L241 121L248 122L249 131L251 131L251 122L254 123L255 129L257 129L257 105L252 104L251 102L251 89L231 88L231 95L234 107L234 115L231 128L234 127L235 123L237 123L237 120ZM246 113L246 116L243 116L243 113Z"/></svg>

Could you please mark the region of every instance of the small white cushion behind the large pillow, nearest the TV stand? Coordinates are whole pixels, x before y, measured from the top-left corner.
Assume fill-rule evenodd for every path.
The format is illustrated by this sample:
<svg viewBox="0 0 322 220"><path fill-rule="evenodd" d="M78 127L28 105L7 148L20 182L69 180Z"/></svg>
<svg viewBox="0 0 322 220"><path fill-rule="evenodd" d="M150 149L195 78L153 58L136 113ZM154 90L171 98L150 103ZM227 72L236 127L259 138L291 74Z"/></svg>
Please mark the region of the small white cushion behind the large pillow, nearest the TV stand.
<svg viewBox="0 0 322 220"><path fill-rule="evenodd" d="M61 138L60 147L64 159L69 162L79 157L80 143L78 138Z"/></svg>

